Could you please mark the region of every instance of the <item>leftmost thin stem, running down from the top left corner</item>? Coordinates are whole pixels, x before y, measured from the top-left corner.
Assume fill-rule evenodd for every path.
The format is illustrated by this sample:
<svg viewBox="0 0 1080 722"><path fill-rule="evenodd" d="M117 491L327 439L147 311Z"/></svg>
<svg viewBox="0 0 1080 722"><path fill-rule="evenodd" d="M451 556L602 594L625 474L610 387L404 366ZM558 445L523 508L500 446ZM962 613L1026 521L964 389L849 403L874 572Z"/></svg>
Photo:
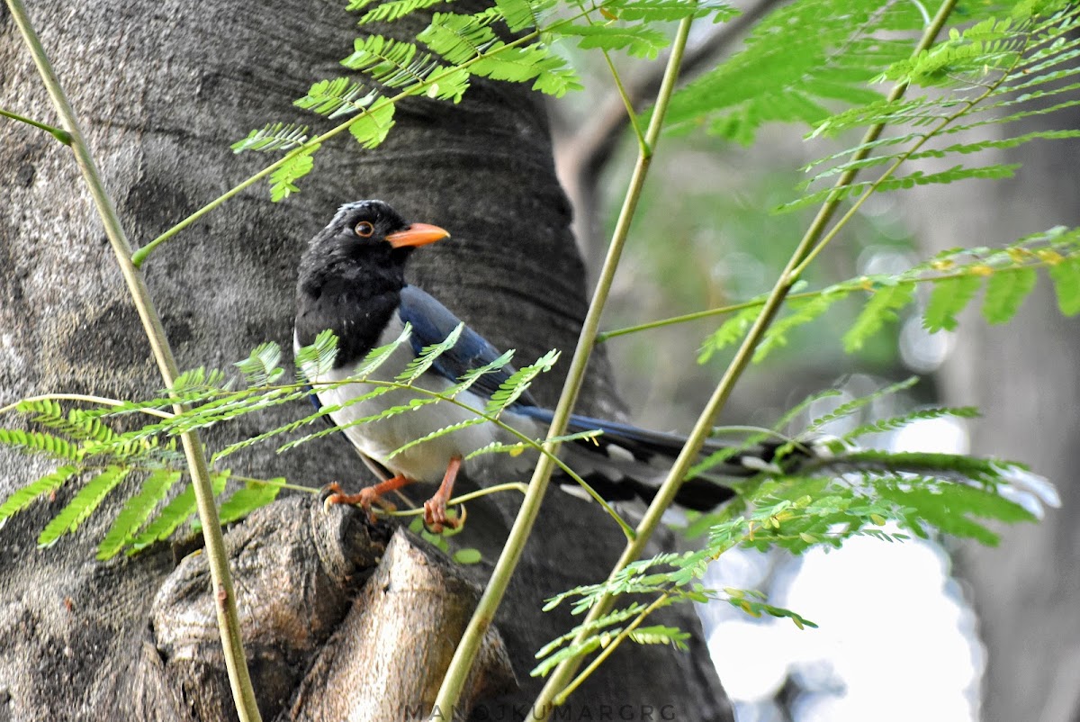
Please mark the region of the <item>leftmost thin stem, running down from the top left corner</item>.
<svg viewBox="0 0 1080 722"><path fill-rule="evenodd" d="M71 149L75 151L76 161L82 171L83 178L90 187L94 205L105 225L105 232L112 245L120 265L120 271L127 283L127 290L132 295L135 307L138 310L139 319L150 342L154 360L166 387L172 387L179 371L176 366L176 359L168 346L161 317L158 315L147 290L146 281L132 263L132 249L127 242L127 237L120 224L112 199L105 189L102 175L94 162L94 157L90 152L90 146L83 137L82 129L76 118L71 104L67 99L63 85L56 77L52 63L45 53L41 40L33 29L30 18L26 13L26 8L22 0L6 0L12 17L18 26L19 32L26 42L27 49L33 56L33 63L38 67L38 72L49 91L56 112L60 118L65 132L71 136ZM174 407L177 414L184 412L184 406L177 404ZM214 599L217 609L218 629L221 634L221 644L225 652L226 667L229 670L229 684L232 687L233 701L237 712L242 722L256 722L261 720L259 709L255 701L255 692L252 688L251 676L247 671L247 663L244 658L244 647L240 632L240 619L237 615L237 598L232 588L232 578L229 576L228 557L225 551L225 542L221 537L221 525L218 521L217 507L214 505L214 490L211 486L210 470L206 465L206 457L203 453L202 443L199 437L192 431L183 434L184 452L188 458L188 467L191 473L191 484L195 491L195 499L199 508L199 519L203 526L203 538L206 543L206 557L210 562L211 576L214 583Z"/></svg>

